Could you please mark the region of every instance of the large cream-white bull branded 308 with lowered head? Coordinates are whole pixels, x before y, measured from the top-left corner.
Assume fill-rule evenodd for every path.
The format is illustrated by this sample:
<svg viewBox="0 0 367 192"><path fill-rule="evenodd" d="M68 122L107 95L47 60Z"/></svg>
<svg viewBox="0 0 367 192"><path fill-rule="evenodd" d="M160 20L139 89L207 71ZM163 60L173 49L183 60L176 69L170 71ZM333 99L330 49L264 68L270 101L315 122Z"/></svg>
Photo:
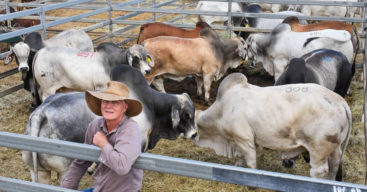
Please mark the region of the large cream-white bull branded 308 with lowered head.
<svg viewBox="0 0 367 192"><path fill-rule="evenodd" d="M240 157L238 166L244 157L256 169L259 146L276 150L284 160L308 150L311 177L323 178L329 171L328 180L341 181L352 116L340 95L320 85L257 87L234 73L222 81L209 109L195 111L195 125L193 143L218 155Z"/></svg>

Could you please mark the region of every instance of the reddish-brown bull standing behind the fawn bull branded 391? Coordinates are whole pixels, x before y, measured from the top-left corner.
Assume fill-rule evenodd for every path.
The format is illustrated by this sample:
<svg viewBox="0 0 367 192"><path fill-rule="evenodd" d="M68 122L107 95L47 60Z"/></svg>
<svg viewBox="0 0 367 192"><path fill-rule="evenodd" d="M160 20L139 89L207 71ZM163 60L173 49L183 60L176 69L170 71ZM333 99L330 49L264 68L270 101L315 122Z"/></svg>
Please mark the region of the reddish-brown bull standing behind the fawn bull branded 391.
<svg viewBox="0 0 367 192"><path fill-rule="evenodd" d="M160 22L146 23L140 27L137 44L141 44L145 39L159 37L159 36L170 36L170 37L181 37L181 38L198 38L201 29L210 27L208 23L199 21L196 23L196 29L186 30L172 25L167 25Z"/></svg>

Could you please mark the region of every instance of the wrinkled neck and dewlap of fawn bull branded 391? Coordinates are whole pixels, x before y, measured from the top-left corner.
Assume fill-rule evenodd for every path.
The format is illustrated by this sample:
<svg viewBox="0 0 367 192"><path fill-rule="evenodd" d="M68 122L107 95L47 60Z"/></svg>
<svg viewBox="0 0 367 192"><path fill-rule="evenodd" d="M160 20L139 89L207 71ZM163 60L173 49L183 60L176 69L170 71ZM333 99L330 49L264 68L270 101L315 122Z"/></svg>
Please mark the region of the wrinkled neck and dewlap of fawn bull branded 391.
<svg viewBox="0 0 367 192"><path fill-rule="evenodd" d="M237 68L241 62L241 57L238 55L238 40L237 39L224 39L222 40L222 67L219 71L215 72L214 80L217 81L221 79L227 72L229 68ZM235 51L237 50L237 51Z"/></svg>

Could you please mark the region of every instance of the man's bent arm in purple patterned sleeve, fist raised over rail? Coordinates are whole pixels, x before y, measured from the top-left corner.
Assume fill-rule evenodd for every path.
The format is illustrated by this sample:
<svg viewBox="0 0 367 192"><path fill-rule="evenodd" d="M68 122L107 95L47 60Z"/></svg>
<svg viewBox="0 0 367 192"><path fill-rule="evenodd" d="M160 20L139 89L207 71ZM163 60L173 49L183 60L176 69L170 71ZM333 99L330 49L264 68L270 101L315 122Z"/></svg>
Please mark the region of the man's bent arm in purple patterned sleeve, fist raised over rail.
<svg viewBox="0 0 367 192"><path fill-rule="evenodd" d="M138 124L129 122L124 129L128 132L121 132L116 140L115 147L105 144L102 149L99 161L108 166L119 175L127 174L132 164L139 157L141 151L141 136Z"/></svg>

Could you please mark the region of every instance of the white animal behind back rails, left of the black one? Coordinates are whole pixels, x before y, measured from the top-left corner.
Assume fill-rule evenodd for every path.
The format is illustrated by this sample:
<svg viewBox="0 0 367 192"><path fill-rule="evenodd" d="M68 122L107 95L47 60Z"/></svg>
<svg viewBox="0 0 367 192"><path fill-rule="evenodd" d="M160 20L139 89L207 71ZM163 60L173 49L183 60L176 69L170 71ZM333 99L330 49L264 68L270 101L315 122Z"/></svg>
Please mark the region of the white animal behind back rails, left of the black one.
<svg viewBox="0 0 367 192"><path fill-rule="evenodd" d="M228 12L228 2L199 1L196 10ZM236 11L242 12L240 3L232 3L232 12ZM226 20L228 20L227 16L197 15L197 21L204 21L209 25L222 25Z"/></svg>

